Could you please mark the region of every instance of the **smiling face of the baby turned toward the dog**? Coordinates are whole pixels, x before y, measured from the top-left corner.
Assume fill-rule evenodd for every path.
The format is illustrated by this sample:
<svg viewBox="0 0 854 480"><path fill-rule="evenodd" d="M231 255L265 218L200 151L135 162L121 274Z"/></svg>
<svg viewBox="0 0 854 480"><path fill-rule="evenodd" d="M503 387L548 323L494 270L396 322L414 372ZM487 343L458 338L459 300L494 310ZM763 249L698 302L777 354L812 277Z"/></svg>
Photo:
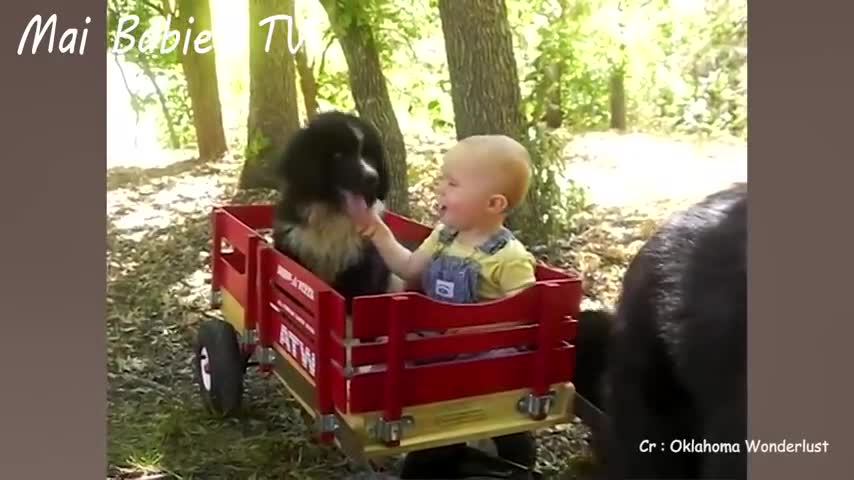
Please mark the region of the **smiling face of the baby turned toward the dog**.
<svg viewBox="0 0 854 480"><path fill-rule="evenodd" d="M481 222L497 193L494 172L466 150L452 149L445 156L438 190L440 221L459 230Z"/></svg>

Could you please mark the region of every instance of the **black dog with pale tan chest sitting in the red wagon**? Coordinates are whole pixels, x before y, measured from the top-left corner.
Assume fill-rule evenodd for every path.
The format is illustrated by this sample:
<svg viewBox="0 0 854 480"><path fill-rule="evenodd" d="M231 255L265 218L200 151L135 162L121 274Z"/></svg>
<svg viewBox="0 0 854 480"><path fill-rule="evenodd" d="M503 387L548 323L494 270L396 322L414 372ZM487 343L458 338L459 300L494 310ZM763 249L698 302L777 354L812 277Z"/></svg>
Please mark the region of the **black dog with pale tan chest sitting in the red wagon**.
<svg viewBox="0 0 854 480"><path fill-rule="evenodd" d="M347 301L384 293L391 274L347 215L345 191L382 209L388 166L376 129L355 115L324 112L290 140L276 168L281 183L273 243Z"/></svg>

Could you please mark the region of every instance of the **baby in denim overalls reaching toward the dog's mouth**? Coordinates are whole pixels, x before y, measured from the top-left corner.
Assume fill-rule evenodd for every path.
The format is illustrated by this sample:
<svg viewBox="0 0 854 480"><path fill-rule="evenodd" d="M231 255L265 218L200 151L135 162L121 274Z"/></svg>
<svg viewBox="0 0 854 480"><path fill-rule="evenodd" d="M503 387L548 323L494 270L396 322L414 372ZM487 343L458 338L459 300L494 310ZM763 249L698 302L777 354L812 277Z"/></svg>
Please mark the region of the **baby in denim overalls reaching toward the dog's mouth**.
<svg viewBox="0 0 854 480"><path fill-rule="evenodd" d="M445 154L438 191L440 224L414 251L367 209L354 214L389 268L424 293L451 303L513 295L535 282L536 260L504 227L528 191L527 150L504 135L465 138Z"/></svg>

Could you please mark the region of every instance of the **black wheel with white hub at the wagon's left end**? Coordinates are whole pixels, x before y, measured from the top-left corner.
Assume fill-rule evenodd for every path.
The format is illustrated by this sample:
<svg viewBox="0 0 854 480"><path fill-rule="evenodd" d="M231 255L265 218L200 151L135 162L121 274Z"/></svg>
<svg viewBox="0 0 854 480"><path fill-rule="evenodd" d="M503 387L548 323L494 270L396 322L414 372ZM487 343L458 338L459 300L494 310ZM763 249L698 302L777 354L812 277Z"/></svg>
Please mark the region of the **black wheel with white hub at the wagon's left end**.
<svg viewBox="0 0 854 480"><path fill-rule="evenodd" d="M243 397L246 361L237 332L222 320L208 320L199 327L193 368L207 407L222 416L238 412Z"/></svg>

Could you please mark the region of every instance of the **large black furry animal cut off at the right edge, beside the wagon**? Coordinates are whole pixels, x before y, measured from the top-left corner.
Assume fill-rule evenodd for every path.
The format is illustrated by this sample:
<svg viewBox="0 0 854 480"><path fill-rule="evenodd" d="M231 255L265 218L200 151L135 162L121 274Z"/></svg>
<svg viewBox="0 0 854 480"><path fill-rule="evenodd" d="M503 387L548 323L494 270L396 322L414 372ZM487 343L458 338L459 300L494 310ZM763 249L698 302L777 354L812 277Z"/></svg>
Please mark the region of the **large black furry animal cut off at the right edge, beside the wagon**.
<svg viewBox="0 0 854 480"><path fill-rule="evenodd" d="M613 319L582 314L577 389L608 417L594 438L606 478L747 477L746 304L739 184L675 214L647 241Z"/></svg>

